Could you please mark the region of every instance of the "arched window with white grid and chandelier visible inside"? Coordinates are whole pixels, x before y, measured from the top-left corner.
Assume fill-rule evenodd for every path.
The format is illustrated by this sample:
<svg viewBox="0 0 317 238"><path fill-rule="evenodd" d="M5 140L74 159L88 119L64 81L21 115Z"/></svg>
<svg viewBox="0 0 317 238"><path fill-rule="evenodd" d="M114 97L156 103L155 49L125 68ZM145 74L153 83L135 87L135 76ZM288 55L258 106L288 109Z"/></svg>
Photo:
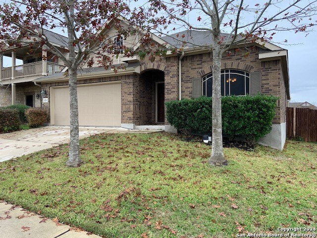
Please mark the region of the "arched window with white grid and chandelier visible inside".
<svg viewBox="0 0 317 238"><path fill-rule="evenodd" d="M203 77L203 95L212 97L212 73ZM236 69L221 70L221 95L248 95L250 93L250 74Z"/></svg>

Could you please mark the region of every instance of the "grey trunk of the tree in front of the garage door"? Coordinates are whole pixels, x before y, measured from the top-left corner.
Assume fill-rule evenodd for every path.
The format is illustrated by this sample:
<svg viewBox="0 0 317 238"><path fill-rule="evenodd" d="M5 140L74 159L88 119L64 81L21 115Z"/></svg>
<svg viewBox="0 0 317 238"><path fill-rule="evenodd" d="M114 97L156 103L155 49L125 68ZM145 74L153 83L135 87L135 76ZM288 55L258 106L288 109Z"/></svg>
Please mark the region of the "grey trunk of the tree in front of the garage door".
<svg viewBox="0 0 317 238"><path fill-rule="evenodd" d="M69 73L69 102L70 102L70 147L67 166L78 167L82 160L79 158L79 123L77 99L77 69L71 67Z"/></svg>

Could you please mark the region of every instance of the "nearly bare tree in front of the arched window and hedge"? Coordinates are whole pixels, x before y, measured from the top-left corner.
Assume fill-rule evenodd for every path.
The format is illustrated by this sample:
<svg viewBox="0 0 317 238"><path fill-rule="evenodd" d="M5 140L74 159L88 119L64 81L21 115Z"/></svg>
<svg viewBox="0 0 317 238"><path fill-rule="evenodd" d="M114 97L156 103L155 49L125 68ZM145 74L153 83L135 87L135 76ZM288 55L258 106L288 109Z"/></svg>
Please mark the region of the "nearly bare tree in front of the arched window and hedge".
<svg viewBox="0 0 317 238"><path fill-rule="evenodd" d="M233 47L247 42L265 44L279 31L308 32L316 25L315 0L150 0L149 5L138 10L147 14L144 19L151 23L152 30L160 35L174 33L181 28L209 31L212 44L212 151L210 164L227 165L222 147L221 123L221 59L230 54ZM227 34L223 34L223 33ZM184 36L177 36L183 42ZM287 40L285 40L287 43ZM182 47L178 49L182 51ZM246 55L247 56L247 55Z"/></svg>

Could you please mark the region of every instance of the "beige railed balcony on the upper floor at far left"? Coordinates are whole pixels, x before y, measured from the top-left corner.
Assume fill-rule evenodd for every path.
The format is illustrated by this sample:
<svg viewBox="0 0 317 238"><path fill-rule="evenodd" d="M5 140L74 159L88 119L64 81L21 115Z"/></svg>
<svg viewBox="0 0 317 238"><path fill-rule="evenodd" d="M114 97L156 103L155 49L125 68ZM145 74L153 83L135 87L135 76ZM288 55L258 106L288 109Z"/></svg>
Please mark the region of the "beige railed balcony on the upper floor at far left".
<svg viewBox="0 0 317 238"><path fill-rule="evenodd" d="M1 69L0 81L40 75L51 75L61 72L64 67L64 65L47 61L39 61L6 67Z"/></svg>

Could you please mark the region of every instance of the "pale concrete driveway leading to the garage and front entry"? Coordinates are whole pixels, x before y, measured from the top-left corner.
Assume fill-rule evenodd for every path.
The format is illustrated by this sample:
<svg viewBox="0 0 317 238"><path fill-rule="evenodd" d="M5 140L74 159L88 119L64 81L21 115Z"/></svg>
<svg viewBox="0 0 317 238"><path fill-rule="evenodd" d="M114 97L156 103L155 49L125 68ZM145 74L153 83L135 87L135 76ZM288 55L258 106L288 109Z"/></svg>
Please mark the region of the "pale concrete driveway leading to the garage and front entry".
<svg viewBox="0 0 317 238"><path fill-rule="evenodd" d="M79 127L79 138L98 133L151 133L159 130L131 130L121 127ZM0 162L69 143L69 126L45 126L0 134Z"/></svg>

